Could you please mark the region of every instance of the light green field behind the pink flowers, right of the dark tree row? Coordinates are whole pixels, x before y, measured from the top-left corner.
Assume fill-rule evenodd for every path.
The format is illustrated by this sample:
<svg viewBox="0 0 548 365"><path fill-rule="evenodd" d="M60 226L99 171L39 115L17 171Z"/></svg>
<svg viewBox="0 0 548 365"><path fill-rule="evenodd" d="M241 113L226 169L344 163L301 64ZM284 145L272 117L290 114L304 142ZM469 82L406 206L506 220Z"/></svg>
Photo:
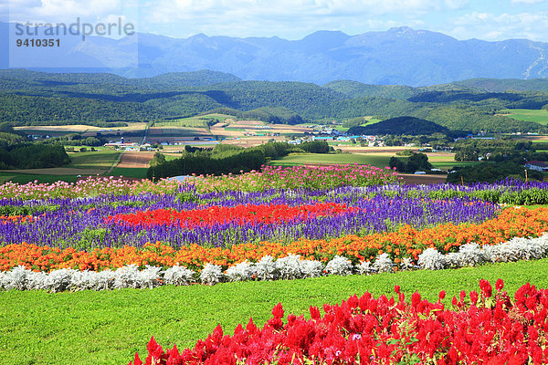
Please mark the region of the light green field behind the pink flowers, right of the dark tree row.
<svg viewBox="0 0 548 365"><path fill-rule="evenodd" d="M376 167L388 166L390 156L378 155L377 153L298 153L283 157L279 160L269 162L275 166L295 166L302 164L346 164L354 163L366 165L371 164Z"/></svg>

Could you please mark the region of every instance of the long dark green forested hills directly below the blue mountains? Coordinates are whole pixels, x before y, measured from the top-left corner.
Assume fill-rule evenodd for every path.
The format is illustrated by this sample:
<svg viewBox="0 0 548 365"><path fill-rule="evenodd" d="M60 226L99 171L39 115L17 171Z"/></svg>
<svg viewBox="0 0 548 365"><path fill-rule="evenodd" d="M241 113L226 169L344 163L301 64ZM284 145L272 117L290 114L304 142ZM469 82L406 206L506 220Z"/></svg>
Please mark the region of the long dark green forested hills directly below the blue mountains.
<svg viewBox="0 0 548 365"><path fill-rule="evenodd" d="M449 130L543 132L535 122L499 115L506 109L541 109L548 92L485 91L470 85L428 88L333 81L244 81L213 71L154 78L112 74L56 74L0 70L0 122L16 125L171 120L230 108L269 122L349 120L402 116L433 121Z"/></svg>

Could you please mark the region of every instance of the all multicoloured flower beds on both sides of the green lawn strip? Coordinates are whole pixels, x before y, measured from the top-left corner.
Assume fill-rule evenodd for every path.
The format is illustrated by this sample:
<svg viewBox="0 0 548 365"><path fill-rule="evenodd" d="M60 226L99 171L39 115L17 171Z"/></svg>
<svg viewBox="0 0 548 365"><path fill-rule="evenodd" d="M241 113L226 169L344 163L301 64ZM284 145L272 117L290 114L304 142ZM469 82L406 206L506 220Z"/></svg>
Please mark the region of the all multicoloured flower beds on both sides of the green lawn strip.
<svg viewBox="0 0 548 365"><path fill-rule="evenodd" d="M402 185L389 169L355 165L184 183L6 183L0 291L211 286L539 259L548 256L548 208L513 205L548 203L546 192L546 183L511 180ZM229 337L216 328L194 349L164 352L152 340L147 363L547 362L546 290L525 286L511 300L501 283L494 297L489 288L482 281L480 295L462 294L450 309L441 297L366 294L285 324L279 306L262 329L250 322Z"/></svg>

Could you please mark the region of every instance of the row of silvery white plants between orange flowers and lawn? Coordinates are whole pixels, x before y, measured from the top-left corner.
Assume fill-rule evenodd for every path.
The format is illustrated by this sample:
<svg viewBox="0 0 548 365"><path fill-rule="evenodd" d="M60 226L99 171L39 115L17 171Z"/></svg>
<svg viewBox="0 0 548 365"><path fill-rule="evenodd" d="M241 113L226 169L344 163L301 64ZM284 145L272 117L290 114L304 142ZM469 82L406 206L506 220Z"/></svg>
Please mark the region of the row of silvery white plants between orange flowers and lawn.
<svg viewBox="0 0 548 365"><path fill-rule="evenodd" d="M480 247L475 243L462 245L458 253L443 255L435 248L428 248L418 255L418 266L411 258L404 258L400 269L422 268L438 270L463 266L478 266L483 263L510 262L539 259L548 255L548 234L539 238L513 238L499 245ZM162 285L184 286L200 282L215 285L224 281L277 280L317 277L324 275L347 276L352 274L370 275L392 272L395 263L388 254L378 255L373 263L362 262L353 266L352 262L336 255L326 266L320 261L300 260L299 255L288 255L274 260L266 255L257 263L244 261L222 272L221 266L205 264L199 276L184 266L146 266L139 270L136 265L123 266L117 270L79 271L58 269L51 273L34 272L24 266L16 266L11 271L0 272L0 290L106 290L124 287L153 288Z"/></svg>

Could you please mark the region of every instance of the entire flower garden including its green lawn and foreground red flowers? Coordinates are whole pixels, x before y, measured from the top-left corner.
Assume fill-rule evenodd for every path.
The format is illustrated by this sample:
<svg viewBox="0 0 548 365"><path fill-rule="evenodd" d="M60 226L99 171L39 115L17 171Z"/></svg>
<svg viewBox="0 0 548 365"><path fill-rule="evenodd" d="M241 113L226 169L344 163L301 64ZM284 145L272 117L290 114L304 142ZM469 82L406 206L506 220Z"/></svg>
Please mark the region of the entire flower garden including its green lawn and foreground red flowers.
<svg viewBox="0 0 548 365"><path fill-rule="evenodd" d="M5 187L0 291L6 328L14 328L6 342L10 363L23 363L22 353L30 354L28 360L55 354L45 358L48 363L74 363L79 353L98 354L81 363L133 364L548 362L545 289L526 285L511 296L497 282L494 294L481 281L479 292L473 291L479 277L492 283L503 277L511 293L526 281L539 284L534 275L545 272L545 260L501 263L548 256L548 208L501 203L548 203L545 183L234 188L244 178L199 178L203 185L104 179L78 187ZM227 183L209 189L212 180L207 179ZM482 265L489 266L469 267ZM499 266L506 274L488 277ZM457 267L467 268L441 270ZM414 271L418 268L424 270ZM401 272L382 274L395 271ZM304 277L309 279L285 280ZM467 280L473 285L463 285ZM241 283L227 283L233 281ZM362 281L369 287L358 288ZM395 284L395 295L383 291ZM138 289L145 287L154 289ZM444 291L437 301L437 292L433 299L425 287ZM459 296L457 289L469 294ZM64 290L72 292L47 293ZM342 297L333 296L342 290L347 290L344 296L358 296L326 305L321 314L321 304L340 302ZM424 297L412 294L416 290ZM373 294L362 296L365 291ZM284 316L281 306L272 318L260 317L256 303L272 297L269 308L281 301L286 311L294 310L287 293L299 298L299 305L306 300L306 308L319 306L311 308L311 319L302 310ZM321 302L312 302L313 297ZM142 303L165 306L156 307L153 318ZM81 312L73 304L81 304ZM58 312L36 317L47 308ZM192 310L185 314L182 308ZM228 309L233 308L245 315L232 316ZM224 323L212 317L217 312L235 319ZM237 326L248 323L249 313L258 326ZM106 326L93 329L105 320ZM214 331L218 323L225 333L220 327ZM191 328L186 338L184 328ZM227 336L234 328L234 336ZM55 341L43 341L46 332ZM146 351L152 335L158 343L152 340ZM131 336L139 339L128 341ZM103 337L109 347L101 343ZM85 343L99 343L100 350ZM171 349L174 343L182 350ZM142 358L148 352L147 360L141 362L135 351Z"/></svg>

